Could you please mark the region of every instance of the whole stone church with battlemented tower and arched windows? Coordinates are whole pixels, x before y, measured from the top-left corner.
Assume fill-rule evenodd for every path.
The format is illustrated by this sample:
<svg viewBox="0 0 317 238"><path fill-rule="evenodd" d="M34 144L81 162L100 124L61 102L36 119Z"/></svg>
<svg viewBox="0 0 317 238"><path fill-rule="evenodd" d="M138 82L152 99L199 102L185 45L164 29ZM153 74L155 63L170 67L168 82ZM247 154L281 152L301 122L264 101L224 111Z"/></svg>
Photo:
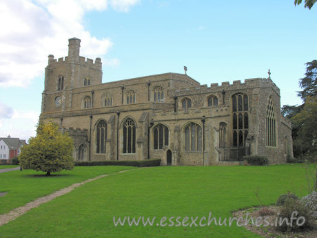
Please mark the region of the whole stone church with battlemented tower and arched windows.
<svg viewBox="0 0 317 238"><path fill-rule="evenodd" d="M102 83L101 59L81 57L80 43L69 39L67 57L48 56L40 116L70 133L77 161L207 166L293 157L291 123L270 77L207 86L185 71Z"/></svg>

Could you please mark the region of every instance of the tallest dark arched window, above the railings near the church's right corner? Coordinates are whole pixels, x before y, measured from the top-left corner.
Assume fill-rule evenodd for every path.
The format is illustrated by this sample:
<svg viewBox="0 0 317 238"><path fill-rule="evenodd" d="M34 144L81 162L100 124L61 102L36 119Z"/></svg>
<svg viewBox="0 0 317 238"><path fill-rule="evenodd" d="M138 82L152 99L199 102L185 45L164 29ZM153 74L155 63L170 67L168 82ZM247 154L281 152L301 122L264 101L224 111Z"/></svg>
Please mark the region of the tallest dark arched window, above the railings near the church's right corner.
<svg viewBox="0 0 317 238"><path fill-rule="evenodd" d="M234 147L244 147L249 129L249 99L243 93L232 95L232 139Z"/></svg>

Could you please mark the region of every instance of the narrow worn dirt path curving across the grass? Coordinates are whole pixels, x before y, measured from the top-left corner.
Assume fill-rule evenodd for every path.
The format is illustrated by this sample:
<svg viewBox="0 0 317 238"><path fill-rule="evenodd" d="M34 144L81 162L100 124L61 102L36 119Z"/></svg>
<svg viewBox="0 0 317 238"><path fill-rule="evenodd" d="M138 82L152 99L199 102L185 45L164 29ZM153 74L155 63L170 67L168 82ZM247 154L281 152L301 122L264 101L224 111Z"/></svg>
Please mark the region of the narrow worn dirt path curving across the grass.
<svg viewBox="0 0 317 238"><path fill-rule="evenodd" d="M71 186L68 186L67 188L62 188L61 190L53 192L52 194L47 195L45 197L39 197L38 199L36 199L34 201L30 201L28 204L25 204L24 206L20 206L19 208L15 208L14 210L11 210L8 213L1 214L0 215L0 226L7 224L9 221L13 221L13 220L17 219L18 217L23 215L25 212L28 212L28 210L31 210L32 208L37 208L41 204L44 204L48 201L51 201L52 199L54 199L56 197L60 197L62 195L65 195L68 192L71 192L72 190L74 190L75 188L78 188L79 186L82 186L83 184L87 184L91 181L95 181L97 179L101 179L101 178L107 177L109 175L115 175L115 174L118 174L121 172L127 172L127 171L130 171L130 170L123 170L123 171L119 171L119 172L114 172L114 173L111 173L108 175L100 175L98 177L94 177L92 179L82 181L81 183L72 184Z"/></svg>

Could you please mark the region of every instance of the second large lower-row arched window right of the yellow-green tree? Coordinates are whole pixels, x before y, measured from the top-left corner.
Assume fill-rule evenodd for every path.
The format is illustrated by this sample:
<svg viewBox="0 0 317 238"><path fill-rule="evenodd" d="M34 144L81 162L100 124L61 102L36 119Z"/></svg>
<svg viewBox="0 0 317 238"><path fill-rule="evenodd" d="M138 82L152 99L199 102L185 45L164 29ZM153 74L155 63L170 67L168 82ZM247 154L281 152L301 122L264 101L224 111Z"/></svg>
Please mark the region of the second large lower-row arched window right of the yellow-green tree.
<svg viewBox="0 0 317 238"><path fill-rule="evenodd" d="M136 126L131 118L123 122L123 154L135 153Z"/></svg>

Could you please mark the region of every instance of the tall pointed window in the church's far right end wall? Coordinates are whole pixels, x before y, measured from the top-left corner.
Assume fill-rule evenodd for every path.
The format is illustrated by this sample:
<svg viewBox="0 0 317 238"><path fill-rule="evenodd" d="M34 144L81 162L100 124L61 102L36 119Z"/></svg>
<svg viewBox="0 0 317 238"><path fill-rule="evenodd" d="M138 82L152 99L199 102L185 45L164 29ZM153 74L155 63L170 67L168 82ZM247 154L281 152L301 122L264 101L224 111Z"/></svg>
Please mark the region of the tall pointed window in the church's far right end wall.
<svg viewBox="0 0 317 238"><path fill-rule="evenodd" d="M276 120L274 112L274 103L271 96L269 96L269 103L267 104L265 127L266 146L276 147Z"/></svg>

